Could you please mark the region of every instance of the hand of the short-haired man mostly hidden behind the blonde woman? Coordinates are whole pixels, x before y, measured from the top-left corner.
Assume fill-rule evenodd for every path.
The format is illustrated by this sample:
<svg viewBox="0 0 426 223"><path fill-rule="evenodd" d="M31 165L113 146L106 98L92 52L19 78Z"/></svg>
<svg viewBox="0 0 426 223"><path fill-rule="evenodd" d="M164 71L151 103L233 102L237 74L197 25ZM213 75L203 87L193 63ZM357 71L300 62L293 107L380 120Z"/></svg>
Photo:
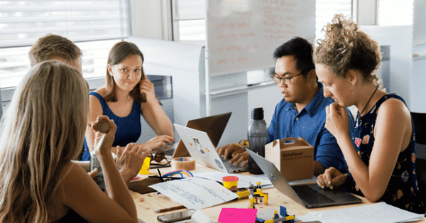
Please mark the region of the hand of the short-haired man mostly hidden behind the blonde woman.
<svg viewBox="0 0 426 223"><path fill-rule="evenodd" d="M145 150L142 146L136 145L136 143L129 143L126 148L117 146L116 166L122 175L129 174L129 179L131 180L138 175L143 161L150 154L151 149Z"/></svg>

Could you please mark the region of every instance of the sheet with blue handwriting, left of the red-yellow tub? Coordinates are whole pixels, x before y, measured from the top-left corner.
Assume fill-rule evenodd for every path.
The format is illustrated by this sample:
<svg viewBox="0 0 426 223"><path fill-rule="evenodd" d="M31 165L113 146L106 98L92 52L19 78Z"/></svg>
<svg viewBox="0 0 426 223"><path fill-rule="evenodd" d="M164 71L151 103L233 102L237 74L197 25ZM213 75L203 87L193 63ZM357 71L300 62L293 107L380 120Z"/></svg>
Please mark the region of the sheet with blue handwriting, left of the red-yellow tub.
<svg viewBox="0 0 426 223"><path fill-rule="evenodd" d="M234 194L216 181L186 178L151 185L153 189L188 209L200 210L234 200Z"/></svg>

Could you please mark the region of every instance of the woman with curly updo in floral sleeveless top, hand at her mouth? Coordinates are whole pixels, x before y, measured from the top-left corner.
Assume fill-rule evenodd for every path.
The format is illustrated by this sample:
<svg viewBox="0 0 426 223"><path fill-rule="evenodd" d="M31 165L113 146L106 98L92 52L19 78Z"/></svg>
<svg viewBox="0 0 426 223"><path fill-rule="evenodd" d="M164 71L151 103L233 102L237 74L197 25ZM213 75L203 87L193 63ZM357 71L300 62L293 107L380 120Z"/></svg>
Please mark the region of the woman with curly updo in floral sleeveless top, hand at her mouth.
<svg viewBox="0 0 426 223"><path fill-rule="evenodd" d="M414 126L403 98L388 94L373 74L381 62L378 43L350 18L335 15L314 50L326 108L326 128L337 139L347 173L335 168L318 177L321 187L347 185L371 202L425 213L415 173ZM344 107L358 109L353 134Z"/></svg>

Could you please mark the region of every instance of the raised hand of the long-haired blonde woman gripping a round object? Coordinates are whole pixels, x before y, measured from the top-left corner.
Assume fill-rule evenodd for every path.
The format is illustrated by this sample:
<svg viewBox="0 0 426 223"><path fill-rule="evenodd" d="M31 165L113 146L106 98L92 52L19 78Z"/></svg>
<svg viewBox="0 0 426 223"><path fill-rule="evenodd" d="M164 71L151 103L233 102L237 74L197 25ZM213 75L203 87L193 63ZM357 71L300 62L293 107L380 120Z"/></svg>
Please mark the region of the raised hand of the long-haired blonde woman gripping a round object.
<svg viewBox="0 0 426 223"><path fill-rule="evenodd" d="M101 133L98 129L98 125L102 120L109 121L109 131L105 133ZM115 133L117 130L117 126L114 123L114 120L109 120L108 116L98 116L96 121L92 121L89 124L92 127L92 130L95 132L94 134L94 153L98 156L99 154L111 154L111 146L114 142Z"/></svg>

